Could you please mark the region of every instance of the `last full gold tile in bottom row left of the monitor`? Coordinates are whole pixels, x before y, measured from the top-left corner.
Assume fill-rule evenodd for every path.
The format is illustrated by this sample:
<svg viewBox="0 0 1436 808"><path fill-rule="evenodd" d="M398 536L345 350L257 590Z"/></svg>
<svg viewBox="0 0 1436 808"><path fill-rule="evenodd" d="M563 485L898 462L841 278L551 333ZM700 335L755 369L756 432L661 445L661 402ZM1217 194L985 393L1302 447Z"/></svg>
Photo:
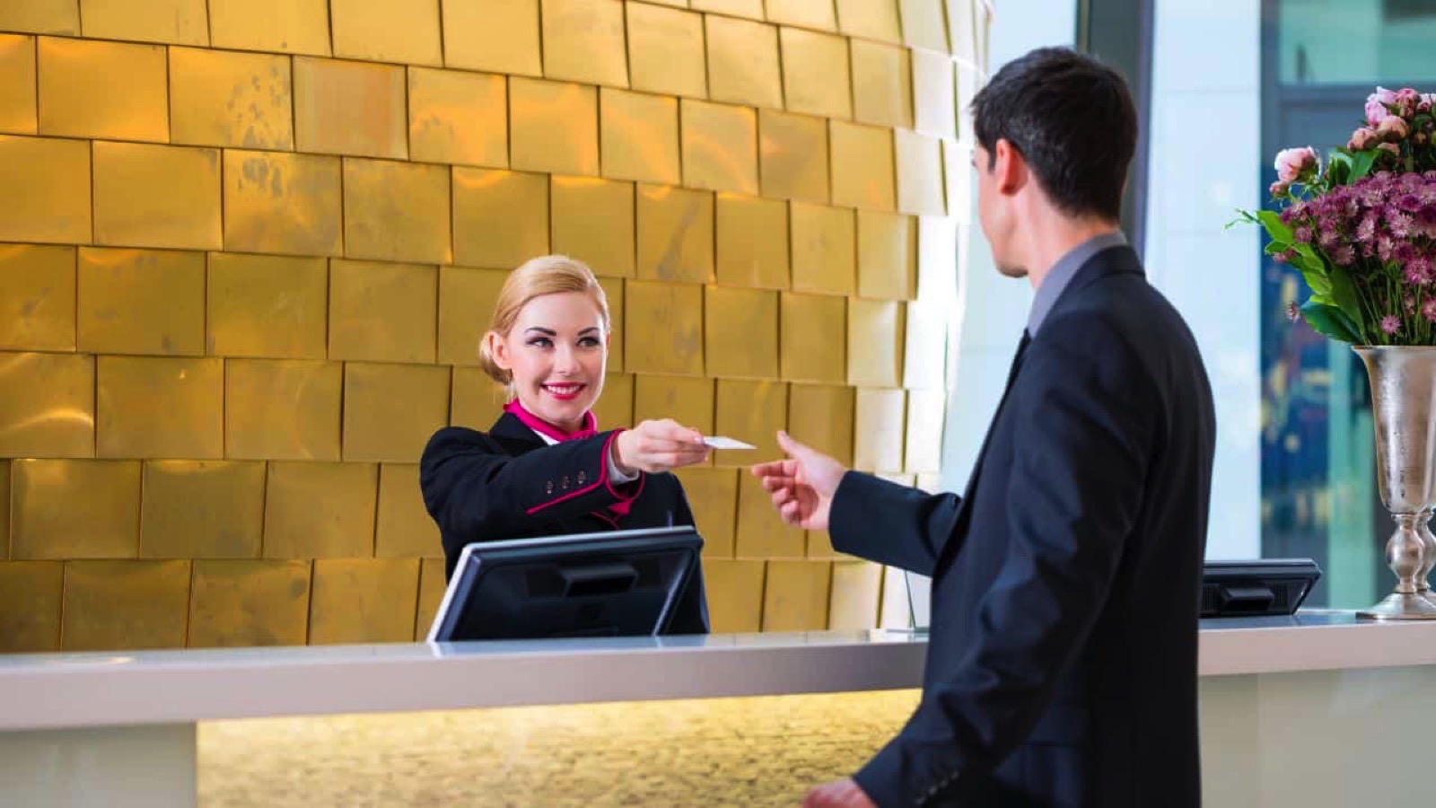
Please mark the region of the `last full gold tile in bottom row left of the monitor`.
<svg viewBox="0 0 1436 808"><path fill-rule="evenodd" d="M416 558L320 558L309 644L408 643L419 597Z"/></svg>

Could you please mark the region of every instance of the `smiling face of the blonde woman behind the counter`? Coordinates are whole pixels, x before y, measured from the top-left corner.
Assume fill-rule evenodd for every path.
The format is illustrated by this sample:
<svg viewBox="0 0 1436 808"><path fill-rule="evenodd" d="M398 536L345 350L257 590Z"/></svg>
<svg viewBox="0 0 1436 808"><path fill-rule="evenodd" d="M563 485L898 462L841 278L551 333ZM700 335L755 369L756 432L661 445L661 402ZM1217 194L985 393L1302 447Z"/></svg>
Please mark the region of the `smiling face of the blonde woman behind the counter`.
<svg viewBox="0 0 1436 808"><path fill-rule="evenodd" d="M607 323L582 292L540 295L518 311L508 334L488 332L494 364L513 374L526 410L574 431L603 392L609 359Z"/></svg>

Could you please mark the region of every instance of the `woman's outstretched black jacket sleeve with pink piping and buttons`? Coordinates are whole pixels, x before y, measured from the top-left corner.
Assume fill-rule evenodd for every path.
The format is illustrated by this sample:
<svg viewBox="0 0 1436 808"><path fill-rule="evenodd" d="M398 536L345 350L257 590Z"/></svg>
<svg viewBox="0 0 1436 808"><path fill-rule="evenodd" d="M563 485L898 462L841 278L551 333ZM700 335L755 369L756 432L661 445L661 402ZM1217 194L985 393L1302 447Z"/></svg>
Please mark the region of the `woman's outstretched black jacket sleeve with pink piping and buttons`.
<svg viewBox="0 0 1436 808"><path fill-rule="evenodd" d="M424 506L445 541L501 539L633 499L643 479L616 486L607 474L617 431L508 456L482 433L447 427L419 459ZM451 555L458 548L444 548Z"/></svg>

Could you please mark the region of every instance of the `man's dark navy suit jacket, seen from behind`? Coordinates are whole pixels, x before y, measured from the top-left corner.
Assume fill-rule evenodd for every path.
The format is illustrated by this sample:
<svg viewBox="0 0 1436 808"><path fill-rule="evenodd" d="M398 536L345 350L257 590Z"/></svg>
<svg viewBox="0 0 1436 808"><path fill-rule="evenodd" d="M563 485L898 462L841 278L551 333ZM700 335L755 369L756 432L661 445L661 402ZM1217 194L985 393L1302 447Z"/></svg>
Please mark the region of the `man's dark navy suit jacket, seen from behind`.
<svg viewBox="0 0 1436 808"><path fill-rule="evenodd" d="M1196 808L1215 416L1136 253L1020 352L962 497L847 473L833 545L932 575L919 707L857 775L889 805Z"/></svg>

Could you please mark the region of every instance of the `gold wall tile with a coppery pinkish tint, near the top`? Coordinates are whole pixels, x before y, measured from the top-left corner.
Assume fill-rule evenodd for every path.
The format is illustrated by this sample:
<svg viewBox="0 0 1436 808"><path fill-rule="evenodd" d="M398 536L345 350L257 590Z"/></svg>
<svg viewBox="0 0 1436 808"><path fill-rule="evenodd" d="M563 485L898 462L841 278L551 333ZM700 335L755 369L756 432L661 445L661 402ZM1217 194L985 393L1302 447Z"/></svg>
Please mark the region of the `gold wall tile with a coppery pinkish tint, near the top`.
<svg viewBox="0 0 1436 808"><path fill-rule="evenodd" d="M294 58L294 144L299 151L408 157L404 68Z"/></svg>

